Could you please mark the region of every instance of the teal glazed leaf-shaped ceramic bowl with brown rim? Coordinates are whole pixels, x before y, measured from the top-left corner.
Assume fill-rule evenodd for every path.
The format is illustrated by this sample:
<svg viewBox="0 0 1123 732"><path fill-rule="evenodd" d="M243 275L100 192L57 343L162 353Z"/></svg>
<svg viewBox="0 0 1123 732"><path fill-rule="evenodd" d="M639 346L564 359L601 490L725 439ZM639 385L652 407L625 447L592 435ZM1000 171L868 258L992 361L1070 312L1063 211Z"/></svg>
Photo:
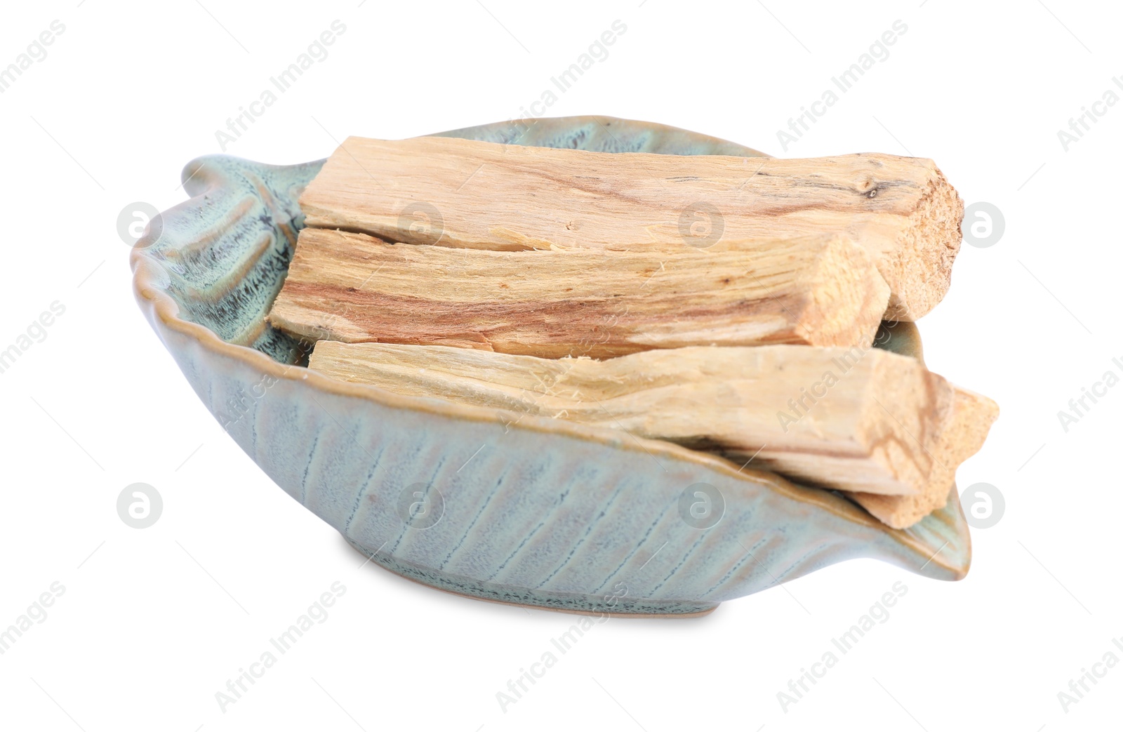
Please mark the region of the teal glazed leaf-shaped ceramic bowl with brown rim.
<svg viewBox="0 0 1123 732"><path fill-rule="evenodd" d="M761 155L612 118L442 135L603 152ZM305 345L264 317L303 226L296 199L321 164L218 155L191 162L183 179L192 198L166 211L133 253L134 289L230 437L373 562L482 600L637 615L705 613L857 557L937 579L966 575L970 539L955 488L944 509L893 530L833 492L739 472L667 442L545 418L512 421L305 368ZM919 348L909 328L897 348ZM681 496L697 483L724 501L709 529L679 514ZM402 511L414 492L430 513Z"/></svg>

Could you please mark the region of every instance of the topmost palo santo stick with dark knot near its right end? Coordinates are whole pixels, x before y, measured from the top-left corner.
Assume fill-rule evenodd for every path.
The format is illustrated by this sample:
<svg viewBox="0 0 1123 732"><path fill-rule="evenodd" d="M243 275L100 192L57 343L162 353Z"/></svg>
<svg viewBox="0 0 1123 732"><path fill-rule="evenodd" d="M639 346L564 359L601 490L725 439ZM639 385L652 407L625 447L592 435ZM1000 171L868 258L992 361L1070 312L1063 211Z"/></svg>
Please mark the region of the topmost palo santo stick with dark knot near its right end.
<svg viewBox="0 0 1123 732"><path fill-rule="evenodd" d="M930 159L590 153L418 137L350 137L300 196L311 227L478 249L843 232L915 320L948 289L962 201Z"/></svg>

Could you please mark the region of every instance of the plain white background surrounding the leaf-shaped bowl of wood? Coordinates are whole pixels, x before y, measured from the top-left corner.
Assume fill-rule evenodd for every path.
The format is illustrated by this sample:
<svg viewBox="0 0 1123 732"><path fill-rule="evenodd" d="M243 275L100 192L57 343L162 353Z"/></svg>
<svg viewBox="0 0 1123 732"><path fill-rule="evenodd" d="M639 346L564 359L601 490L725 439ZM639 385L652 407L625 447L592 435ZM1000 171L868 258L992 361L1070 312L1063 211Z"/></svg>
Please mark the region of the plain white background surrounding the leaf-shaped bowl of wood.
<svg viewBox="0 0 1123 732"><path fill-rule="evenodd" d="M1116 729L1123 667L1067 711L1058 693L1107 651L1123 659L1123 387L1067 432L1057 413L1104 372L1123 375L1123 104L1068 150L1057 132L1105 90L1123 94L1123 18L1047 2L6 8L0 66L52 20L65 31L0 94L0 348L53 301L66 310L0 374L0 626L53 582L65 593L0 656L0 728ZM613 619L502 710L496 692L574 617L359 569L200 404L133 301L116 232L130 202L183 200L183 164L219 152L214 131L335 19L346 33L330 55L228 153L296 163L328 155L334 137L518 117L619 19L608 58L549 116L655 120L784 156L911 153L968 203L997 205L1004 236L964 246L921 322L929 366L1002 405L959 472L960 487L990 483L1006 501L997 525L973 532L969 576L855 560L701 620ZM888 58L782 150L777 129L898 19L907 33ZM116 511L136 482L164 500L144 530ZM222 712L216 692L337 580L347 592L327 621ZM907 594L889 620L782 710L777 692L898 580Z"/></svg>

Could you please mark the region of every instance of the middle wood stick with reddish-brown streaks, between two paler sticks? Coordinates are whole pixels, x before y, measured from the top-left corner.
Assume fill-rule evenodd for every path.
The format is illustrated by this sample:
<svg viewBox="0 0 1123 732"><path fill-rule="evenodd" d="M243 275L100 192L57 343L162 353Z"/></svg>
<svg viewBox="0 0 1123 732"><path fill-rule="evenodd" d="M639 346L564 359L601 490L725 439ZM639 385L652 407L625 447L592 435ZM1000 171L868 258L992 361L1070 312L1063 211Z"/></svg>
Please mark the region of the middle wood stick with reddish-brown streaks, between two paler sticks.
<svg viewBox="0 0 1123 732"><path fill-rule="evenodd" d="M270 322L308 339L603 358L691 345L865 347L887 300L869 255L840 235L467 251L305 228Z"/></svg>

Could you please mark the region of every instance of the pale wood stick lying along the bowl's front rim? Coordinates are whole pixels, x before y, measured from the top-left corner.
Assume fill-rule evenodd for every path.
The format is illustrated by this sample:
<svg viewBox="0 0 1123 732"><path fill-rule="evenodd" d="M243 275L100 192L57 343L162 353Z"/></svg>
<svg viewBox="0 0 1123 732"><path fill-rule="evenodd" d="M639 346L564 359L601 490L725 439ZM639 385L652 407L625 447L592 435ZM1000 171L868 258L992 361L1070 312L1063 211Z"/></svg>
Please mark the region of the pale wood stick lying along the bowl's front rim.
<svg viewBox="0 0 1123 732"><path fill-rule="evenodd" d="M864 493L947 495L957 460L986 436L957 429L978 420L968 402L952 410L951 384L876 348L687 347L555 360L320 341L309 367L399 394L756 455L759 467Z"/></svg>

